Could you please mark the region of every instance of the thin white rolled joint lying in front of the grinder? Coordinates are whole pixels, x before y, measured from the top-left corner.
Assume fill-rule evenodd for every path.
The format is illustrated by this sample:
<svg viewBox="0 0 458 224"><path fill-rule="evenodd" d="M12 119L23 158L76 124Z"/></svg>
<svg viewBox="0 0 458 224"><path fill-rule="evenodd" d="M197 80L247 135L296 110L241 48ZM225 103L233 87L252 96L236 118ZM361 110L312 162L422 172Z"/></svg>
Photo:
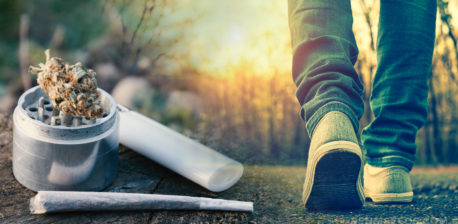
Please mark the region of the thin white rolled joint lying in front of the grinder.
<svg viewBox="0 0 458 224"><path fill-rule="evenodd" d="M253 202L162 194L38 191L30 213L122 210L217 210L253 212Z"/></svg>

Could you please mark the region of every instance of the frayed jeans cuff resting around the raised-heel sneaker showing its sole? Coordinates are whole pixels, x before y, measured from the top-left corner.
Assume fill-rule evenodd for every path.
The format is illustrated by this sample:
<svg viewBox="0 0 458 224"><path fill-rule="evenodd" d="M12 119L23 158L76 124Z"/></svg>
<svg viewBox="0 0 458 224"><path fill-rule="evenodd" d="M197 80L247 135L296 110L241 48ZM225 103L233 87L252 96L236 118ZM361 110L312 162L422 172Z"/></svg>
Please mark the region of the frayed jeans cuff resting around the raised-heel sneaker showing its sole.
<svg viewBox="0 0 458 224"><path fill-rule="evenodd" d="M355 130L355 133L358 133L359 121L358 121L358 118L357 118L355 112L353 112L353 110L349 106L345 105L344 103L333 101L333 102L329 102L329 103L323 105L322 107L320 107L310 117L310 119L305 123L305 126L307 128L307 132L308 132L310 137L312 136L313 130L315 129L316 125L321 120L321 118L323 118L324 115L326 115L327 113L329 113L331 111L339 111L339 112L342 112L345 115L347 115L348 118L350 119L351 123L353 124L353 128Z"/></svg>

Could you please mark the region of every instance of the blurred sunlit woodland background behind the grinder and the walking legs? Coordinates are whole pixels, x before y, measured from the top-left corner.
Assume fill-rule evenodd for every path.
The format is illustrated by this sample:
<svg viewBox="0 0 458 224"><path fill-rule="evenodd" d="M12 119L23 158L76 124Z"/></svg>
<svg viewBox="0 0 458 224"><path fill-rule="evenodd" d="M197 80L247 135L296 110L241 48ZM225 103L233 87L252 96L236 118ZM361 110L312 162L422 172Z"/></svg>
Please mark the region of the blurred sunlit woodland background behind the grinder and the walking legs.
<svg viewBox="0 0 458 224"><path fill-rule="evenodd" d="M458 163L458 0L439 0L429 117L417 165ZM377 0L352 0L365 84ZM95 69L116 100L245 164L303 165L308 136L291 77L287 1L0 0L0 112L36 85L51 49Z"/></svg>

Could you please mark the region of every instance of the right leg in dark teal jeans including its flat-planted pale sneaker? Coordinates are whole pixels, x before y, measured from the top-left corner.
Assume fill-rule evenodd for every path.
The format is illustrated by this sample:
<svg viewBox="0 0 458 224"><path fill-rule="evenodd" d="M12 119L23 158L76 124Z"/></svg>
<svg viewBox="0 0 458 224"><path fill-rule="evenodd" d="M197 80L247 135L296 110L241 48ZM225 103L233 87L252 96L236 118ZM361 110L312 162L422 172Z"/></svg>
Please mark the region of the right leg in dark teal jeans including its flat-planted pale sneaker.
<svg viewBox="0 0 458 224"><path fill-rule="evenodd" d="M363 130L366 196L375 202L409 202L408 172L415 161L415 136L428 113L436 0L381 0L378 67Z"/></svg>

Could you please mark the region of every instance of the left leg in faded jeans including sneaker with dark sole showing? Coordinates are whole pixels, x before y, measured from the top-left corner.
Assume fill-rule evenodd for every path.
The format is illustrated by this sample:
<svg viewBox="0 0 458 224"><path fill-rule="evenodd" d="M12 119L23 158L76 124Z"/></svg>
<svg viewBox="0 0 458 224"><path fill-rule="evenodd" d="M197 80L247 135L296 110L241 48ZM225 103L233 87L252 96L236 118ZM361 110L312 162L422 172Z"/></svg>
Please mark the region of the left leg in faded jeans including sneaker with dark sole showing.
<svg viewBox="0 0 458 224"><path fill-rule="evenodd" d="M311 136L303 200L307 208L357 208L364 203L356 132L362 84L350 0L289 1L293 78Z"/></svg>

